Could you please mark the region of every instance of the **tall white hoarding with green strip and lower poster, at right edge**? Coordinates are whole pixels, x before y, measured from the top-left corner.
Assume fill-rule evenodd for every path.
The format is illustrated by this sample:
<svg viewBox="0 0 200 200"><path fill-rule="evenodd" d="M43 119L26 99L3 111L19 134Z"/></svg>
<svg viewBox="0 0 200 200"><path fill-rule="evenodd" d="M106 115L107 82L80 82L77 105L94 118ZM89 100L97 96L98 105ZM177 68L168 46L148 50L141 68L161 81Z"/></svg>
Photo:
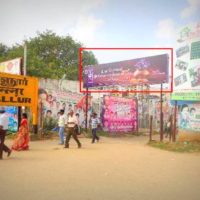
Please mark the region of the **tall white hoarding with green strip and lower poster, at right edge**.
<svg viewBox="0 0 200 200"><path fill-rule="evenodd" d="M175 54L171 99L178 103L179 137L195 135L197 138L200 133L200 22L180 29Z"/></svg>

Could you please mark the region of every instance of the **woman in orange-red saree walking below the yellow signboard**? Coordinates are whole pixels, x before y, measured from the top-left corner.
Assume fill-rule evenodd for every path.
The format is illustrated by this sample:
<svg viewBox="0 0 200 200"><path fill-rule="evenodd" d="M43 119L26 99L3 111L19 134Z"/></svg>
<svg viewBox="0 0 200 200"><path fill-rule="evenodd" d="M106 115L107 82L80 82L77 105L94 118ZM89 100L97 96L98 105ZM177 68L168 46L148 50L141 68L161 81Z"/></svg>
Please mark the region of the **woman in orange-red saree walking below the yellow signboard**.
<svg viewBox="0 0 200 200"><path fill-rule="evenodd" d="M28 150L29 149L29 130L27 114L22 114L22 120L19 127L19 131L16 135L12 149L15 151Z"/></svg>

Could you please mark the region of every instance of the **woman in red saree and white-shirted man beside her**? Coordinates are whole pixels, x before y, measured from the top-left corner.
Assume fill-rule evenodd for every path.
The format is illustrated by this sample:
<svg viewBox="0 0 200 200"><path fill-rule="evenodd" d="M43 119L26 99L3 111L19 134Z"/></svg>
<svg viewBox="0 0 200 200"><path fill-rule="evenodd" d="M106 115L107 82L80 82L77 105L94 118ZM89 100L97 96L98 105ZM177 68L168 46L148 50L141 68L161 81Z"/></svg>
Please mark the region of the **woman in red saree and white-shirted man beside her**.
<svg viewBox="0 0 200 200"><path fill-rule="evenodd" d="M4 144L5 136L8 130L8 117L5 113L4 107L0 108L0 159L3 159L3 151L10 156L12 150L28 150L29 149L29 128L27 114L22 114L22 120L20 123L19 131L16 134L13 145L11 148Z"/></svg>

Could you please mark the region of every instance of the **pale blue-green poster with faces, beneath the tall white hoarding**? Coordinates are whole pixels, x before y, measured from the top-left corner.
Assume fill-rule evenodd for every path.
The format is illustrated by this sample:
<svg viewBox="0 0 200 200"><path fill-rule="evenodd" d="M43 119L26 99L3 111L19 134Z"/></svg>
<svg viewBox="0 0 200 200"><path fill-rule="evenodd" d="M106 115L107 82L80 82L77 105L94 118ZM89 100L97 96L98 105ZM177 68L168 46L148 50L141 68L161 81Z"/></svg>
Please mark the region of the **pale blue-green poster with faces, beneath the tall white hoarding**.
<svg viewBox="0 0 200 200"><path fill-rule="evenodd" d="M200 133L200 104L182 104L179 106L179 128Z"/></svg>

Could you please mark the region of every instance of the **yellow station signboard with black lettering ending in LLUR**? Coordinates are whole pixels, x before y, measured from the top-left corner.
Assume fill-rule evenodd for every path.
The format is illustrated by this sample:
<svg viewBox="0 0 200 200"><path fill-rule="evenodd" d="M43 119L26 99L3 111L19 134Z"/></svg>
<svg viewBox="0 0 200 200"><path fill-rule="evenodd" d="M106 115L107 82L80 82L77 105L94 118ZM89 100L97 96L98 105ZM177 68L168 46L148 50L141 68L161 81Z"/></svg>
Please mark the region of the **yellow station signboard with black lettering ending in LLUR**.
<svg viewBox="0 0 200 200"><path fill-rule="evenodd" d="M37 124L38 79L0 73L0 105L30 107Z"/></svg>

